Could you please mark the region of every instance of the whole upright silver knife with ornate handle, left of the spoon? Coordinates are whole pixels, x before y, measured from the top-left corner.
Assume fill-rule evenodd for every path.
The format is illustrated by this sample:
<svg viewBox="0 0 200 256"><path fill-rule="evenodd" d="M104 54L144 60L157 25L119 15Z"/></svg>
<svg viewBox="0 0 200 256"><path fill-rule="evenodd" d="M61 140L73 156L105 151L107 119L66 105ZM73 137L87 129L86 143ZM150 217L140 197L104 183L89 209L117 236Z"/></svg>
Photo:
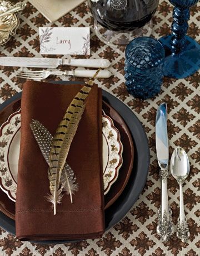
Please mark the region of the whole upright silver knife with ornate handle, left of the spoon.
<svg viewBox="0 0 200 256"><path fill-rule="evenodd" d="M161 168L159 176L161 177L161 207L158 210L157 234L163 241L167 241L169 236L174 233L172 224L172 211L169 208L167 194L167 177L168 177L168 136L167 136L167 104L159 105L156 115L156 152L158 165Z"/></svg>

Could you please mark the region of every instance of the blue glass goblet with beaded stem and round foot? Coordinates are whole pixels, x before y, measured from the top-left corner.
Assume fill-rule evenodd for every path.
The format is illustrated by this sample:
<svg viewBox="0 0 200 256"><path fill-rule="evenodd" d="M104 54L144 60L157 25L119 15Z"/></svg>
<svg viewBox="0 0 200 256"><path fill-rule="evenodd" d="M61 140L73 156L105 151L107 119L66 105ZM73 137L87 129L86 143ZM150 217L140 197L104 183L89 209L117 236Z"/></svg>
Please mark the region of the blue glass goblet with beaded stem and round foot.
<svg viewBox="0 0 200 256"><path fill-rule="evenodd" d="M189 7L198 0L169 0L173 9L171 35L161 37L166 52L164 75L169 78L187 78L200 69L200 45L186 36L188 30Z"/></svg>

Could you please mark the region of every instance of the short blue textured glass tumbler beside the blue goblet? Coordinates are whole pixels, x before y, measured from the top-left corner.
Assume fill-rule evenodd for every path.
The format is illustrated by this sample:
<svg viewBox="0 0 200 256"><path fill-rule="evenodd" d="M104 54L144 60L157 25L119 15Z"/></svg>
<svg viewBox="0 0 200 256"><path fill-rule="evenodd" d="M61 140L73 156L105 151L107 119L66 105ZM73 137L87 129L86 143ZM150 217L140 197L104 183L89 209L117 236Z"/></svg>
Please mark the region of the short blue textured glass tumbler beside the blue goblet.
<svg viewBox="0 0 200 256"><path fill-rule="evenodd" d="M126 47L124 70L129 93L136 98L152 98L163 82L164 48L151 37L138 37Z"/></svg>

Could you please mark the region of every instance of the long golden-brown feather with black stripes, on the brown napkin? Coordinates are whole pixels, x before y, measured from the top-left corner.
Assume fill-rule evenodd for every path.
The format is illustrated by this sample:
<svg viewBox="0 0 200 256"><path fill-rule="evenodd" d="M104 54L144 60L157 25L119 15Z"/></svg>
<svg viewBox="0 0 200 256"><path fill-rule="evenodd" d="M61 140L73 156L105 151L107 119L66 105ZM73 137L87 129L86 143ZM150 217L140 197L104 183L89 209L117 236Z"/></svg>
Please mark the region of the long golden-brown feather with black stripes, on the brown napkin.
<svg viewBox="0 0 200 256"><path fill-rule="evenodd" d="M62 121L58 125L56 134L53 136L48 169L51 195L49 195L48 201L53 204L54 215L56 215L57 203L60 203L62 199L63 186L60 187L59 184L64 163L66 162L69 148L73 137L76 134L79 121L84 113L87 96L92 89L94 79L99 73L99 70L97 70L93 78L89 80L73 98ZM69 195L71 195L71 191L69 191Z"/></svg>

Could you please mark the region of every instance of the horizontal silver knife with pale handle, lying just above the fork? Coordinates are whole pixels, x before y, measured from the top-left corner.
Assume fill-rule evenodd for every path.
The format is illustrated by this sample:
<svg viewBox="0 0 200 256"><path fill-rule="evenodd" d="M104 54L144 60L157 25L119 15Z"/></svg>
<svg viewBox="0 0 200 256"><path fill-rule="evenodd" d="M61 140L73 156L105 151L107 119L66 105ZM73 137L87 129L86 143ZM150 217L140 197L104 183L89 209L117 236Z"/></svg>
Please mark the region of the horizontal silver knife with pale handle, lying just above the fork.
<svg viewBox="0 0 200 256"><path fill-rule="evenodd" d="M56 59L56 58L30 58L30 57L0 57L1 66L16 67L102 67L105 69L111 65L106 59Z"/></svg>

